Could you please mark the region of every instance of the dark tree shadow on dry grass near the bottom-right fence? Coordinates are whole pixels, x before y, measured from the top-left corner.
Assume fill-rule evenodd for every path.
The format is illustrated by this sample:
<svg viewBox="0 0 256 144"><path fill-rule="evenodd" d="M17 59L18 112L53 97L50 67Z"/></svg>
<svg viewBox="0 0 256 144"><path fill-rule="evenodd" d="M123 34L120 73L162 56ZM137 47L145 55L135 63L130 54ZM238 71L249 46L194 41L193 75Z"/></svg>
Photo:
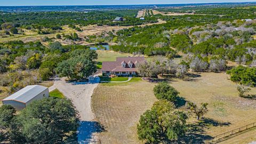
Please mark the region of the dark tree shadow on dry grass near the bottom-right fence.
<svg viewBox="0 0 256 144"><path fill-rule="evenodd" d="M205 129L209 126L228 126L230 123L221 123L211 118L204 118L197 123L188 124L188 131L184 137L180 138L177 143L205 143L213 139L210 135L207 135Z"/></svg>

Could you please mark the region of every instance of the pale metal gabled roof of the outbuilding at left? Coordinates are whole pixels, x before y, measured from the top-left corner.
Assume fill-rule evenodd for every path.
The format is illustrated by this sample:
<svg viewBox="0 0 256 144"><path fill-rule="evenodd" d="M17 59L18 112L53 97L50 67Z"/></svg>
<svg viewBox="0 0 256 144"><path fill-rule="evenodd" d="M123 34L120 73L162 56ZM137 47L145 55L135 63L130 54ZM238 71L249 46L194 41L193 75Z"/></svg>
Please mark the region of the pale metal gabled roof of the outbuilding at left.
<svg viewBox="0 0 256 144"><path fill-rule="evenodd" d="M48 89L48 87L41 85L28 85L23 89L19 90L18 92L15 92L9 97L3 99L2 101L13 100L26 103L31 99L35 98L39 93L43 92L46 89Z"/></svg>

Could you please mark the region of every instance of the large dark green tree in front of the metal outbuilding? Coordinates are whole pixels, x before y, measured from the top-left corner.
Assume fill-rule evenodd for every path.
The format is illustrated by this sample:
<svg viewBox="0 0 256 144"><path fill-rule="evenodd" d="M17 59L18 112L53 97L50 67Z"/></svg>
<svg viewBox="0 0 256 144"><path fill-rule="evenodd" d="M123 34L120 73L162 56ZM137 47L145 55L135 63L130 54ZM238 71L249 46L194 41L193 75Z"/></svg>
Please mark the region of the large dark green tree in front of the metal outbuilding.
<svg viewBox="0 0 256 144"><path fill-rule="evenodd" d="M61 143L78 127L78 114L67 99L45 98L30 103L17 117L25 143Z"/></svg>

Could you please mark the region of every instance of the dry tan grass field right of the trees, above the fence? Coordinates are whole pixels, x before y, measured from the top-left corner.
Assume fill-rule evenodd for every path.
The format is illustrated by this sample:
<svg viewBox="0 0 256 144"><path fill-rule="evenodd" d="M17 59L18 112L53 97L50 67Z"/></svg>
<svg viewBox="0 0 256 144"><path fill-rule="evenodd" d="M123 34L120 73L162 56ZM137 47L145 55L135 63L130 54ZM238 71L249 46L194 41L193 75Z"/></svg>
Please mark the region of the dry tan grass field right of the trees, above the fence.
<svg viewBox="0 0 256 144"><path fill-rule="evenodd" d="M205 129L207 135L213 137L256 122L256 100L238 97L236 84L228 80L227 74L202 73L199 75L201 77L191 78L189 81L174 79L171 85L187 101L198 105L201 102L209 103L209 113L206 117L219 124L209 125ZM252 88L250 93L255 94L256 89Z"/></svg>

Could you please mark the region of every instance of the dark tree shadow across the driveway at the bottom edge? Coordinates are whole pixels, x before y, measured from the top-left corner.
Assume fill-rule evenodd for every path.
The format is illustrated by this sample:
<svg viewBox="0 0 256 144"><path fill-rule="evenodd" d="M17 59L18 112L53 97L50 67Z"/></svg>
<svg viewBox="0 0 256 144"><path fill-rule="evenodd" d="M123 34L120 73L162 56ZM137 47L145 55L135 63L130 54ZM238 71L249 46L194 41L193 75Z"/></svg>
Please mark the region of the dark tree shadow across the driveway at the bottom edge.
<svg viewBox="0 0 256 144"><path fill-rule="evenodd" d="M71 135L65 143L90 143L94 133L105 132L105 127L99 122L81 121L77 133Z"/></svg>

